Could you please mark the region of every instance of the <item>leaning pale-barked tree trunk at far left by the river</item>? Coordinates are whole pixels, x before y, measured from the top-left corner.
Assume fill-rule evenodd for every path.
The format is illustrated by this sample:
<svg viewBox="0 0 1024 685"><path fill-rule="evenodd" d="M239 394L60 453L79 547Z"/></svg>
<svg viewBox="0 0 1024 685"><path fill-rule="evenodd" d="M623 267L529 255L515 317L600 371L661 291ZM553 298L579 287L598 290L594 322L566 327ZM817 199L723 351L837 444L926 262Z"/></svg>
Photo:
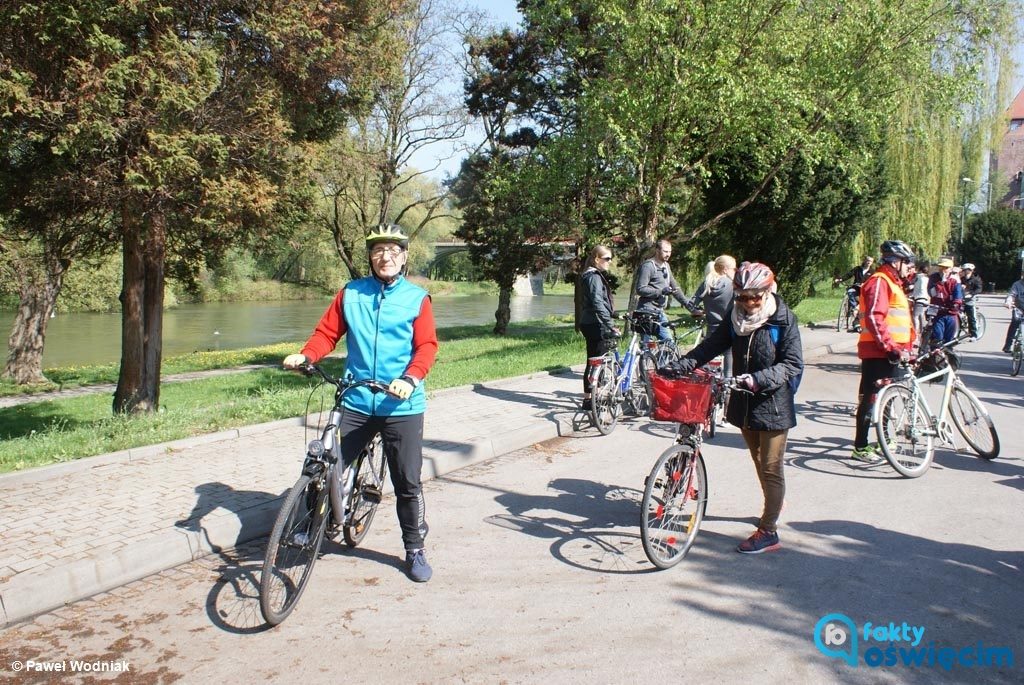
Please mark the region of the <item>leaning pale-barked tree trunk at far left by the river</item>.
<svg viewBox="0 0 1024 685"><path fill-rule="evenodd" d="M47 264L40 277L30 273L31 269L22 273L17 313L7 339L7 362L3 370L3 378L18 385L46 381L43 376L46 326L56 307L65 269Z"/></svg>

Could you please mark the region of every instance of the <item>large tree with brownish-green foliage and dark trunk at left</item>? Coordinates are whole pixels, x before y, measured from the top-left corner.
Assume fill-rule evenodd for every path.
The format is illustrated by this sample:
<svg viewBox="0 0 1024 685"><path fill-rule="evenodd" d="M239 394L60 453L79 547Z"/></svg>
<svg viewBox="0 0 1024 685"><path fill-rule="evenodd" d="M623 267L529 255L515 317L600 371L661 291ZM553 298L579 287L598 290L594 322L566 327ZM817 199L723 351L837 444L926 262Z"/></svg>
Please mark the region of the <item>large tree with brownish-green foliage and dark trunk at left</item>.
<svg viewBox="0 0 1024 685"><path fill-rule="evenodd" d="M258 237L306 156L372 100L399 2L96 0L24 3L4 18L22 54L63 37L60 69L8 61L4 118L98 188L123 258L116 412L159 402L169 265ZM85 11L78 11L79 9ZM7 100L9 102L9 99Z"/></svg>

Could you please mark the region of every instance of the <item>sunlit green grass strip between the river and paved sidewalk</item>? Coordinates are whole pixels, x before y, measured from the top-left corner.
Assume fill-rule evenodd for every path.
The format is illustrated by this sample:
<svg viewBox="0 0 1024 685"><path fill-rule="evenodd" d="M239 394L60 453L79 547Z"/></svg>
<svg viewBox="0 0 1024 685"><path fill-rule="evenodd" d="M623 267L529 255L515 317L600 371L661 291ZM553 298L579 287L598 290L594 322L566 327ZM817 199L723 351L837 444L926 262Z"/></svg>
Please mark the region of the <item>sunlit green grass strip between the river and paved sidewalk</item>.
<svg viewBox="0 0 1024 685"><path fill-rule="evenodd" d="M437 363L427 379L437 390L470 383L551 371L582 363L583 338L564 320L510 327L508 336L490 326L438 332ZM168 359L165 370L196 371L240 363L280 363L296 344L253 350L203 352ZM343 361L328 369L340 373ZM97 369L99 369L97 371ZM67 378L111 380L110 368L65 370ZM171 373L171 372L168 372ZM165 442L275 419L305 411L311 381L278 369L259 369L161 386L160 411L139 417L112 416L109 393L31 402L0 409L0 472Z"/></svg>

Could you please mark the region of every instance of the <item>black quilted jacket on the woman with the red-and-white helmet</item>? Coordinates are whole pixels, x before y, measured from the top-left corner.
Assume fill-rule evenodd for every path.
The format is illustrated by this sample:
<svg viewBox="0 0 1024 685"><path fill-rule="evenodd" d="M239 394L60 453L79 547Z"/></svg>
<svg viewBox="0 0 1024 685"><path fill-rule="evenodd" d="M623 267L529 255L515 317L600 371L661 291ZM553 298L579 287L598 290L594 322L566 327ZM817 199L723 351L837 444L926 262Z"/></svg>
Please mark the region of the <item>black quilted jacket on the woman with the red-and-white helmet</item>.
<svg viewBox="0 0 1024 685"><path fill-rule="evenodd" d="M759 386L753 395L733 392L726 410L726 419L733 426L750 430L787 430L797 425L797 409L790 379L804 370L797 316L778 295L772 295L777 305L764 326L749 336L732 332L732 307L725 320L686 357L698 366L708 363L719 354L732 349L732 372L736 376L751 374ZM778 344L772 342L770 327L778 330Z"/></svg>

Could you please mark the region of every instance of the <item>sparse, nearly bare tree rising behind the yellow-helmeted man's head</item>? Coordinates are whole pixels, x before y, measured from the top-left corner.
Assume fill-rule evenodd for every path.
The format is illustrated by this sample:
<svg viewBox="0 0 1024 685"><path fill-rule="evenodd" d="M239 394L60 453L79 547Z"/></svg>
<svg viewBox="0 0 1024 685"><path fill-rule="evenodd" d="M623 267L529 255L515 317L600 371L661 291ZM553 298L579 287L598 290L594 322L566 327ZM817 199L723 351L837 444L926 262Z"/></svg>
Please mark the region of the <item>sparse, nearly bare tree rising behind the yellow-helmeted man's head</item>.
<svg viewBox="0 0 1024 685"><path fill-rule="evenodd" d="M321 160L319 222L352 277L362 273L362 239L374 226L398 223L416 238L449 216L446 187L421 182L441 161L426 169L412 162L422 151L450 147L466 131L465 109L447 85L458 68L450 50L457 37L453 27L463 13L440 0L406 3L390 25L393 72L373 108ZM411 191L414 186L421 191Z"/></svg>

